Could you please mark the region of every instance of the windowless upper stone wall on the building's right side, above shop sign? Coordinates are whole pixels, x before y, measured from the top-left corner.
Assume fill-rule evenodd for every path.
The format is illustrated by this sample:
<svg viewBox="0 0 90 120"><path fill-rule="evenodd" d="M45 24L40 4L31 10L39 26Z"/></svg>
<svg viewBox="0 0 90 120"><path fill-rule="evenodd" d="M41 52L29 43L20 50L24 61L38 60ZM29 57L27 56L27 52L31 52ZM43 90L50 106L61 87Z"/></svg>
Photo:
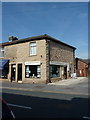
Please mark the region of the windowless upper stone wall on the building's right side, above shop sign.
<svg viewBox="0 0 90 120"><path fill-rule="evenodd" d="M73 49L58 42L50 42L50 61L61 61L74 65Z"/></svg>

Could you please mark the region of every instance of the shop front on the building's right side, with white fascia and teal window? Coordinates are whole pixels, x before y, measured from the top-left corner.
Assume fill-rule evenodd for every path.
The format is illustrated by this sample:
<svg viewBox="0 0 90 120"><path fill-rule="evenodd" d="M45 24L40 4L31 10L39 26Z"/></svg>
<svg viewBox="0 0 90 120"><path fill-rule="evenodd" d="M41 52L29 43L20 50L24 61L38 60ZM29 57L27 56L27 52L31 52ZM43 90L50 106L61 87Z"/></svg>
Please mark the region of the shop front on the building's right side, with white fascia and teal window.
<svg viewBox="0 0 90 120"><path fill-rule="evenodd" d="M50 61L50 78L51 81L68 79L73 73L73 68L69 63Z"/></svg>

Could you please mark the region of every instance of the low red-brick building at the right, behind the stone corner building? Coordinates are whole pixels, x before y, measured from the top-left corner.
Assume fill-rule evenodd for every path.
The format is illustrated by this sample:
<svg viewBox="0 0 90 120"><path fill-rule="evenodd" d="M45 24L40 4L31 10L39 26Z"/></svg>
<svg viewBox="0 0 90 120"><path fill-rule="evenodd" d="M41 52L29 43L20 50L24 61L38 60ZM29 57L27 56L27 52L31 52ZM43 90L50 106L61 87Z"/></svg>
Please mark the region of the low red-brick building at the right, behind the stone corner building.
<svg viewBox="0 0 90 120"><path fill-rule="evenodd" d="M90 75L90 59L76 58L76 73L78 77Z"/></svg>

